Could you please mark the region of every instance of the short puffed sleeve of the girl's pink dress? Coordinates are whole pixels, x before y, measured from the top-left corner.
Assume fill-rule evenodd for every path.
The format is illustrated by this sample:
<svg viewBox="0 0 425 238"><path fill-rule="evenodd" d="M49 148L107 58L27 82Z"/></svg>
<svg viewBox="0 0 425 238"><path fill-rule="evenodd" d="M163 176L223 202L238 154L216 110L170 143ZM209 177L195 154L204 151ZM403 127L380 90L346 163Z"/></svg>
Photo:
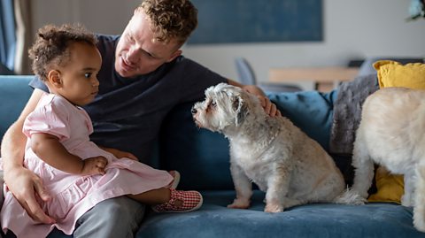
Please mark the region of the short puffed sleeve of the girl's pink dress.
<svg viewBox="0 0 425 238"><path fill-rule="evenodd" d="M58 137L59 141L69 138L70 131L66 108L60 104L39 105L31 112L24 122L23 133L31 138L35 133L47 133Z"/></svg>

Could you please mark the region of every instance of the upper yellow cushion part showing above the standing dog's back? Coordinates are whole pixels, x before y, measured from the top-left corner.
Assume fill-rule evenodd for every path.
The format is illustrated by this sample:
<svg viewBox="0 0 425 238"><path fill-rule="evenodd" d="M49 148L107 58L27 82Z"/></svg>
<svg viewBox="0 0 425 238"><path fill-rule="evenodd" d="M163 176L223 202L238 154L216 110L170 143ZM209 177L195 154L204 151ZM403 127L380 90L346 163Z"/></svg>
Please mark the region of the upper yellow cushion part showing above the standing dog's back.
<svg viewBox="0 0 425 238"><path fill-rule="evenodd" d="M379 87L405 87L425 89L425 64L401 65L396 61L379 60L374 64Z"/></svg>

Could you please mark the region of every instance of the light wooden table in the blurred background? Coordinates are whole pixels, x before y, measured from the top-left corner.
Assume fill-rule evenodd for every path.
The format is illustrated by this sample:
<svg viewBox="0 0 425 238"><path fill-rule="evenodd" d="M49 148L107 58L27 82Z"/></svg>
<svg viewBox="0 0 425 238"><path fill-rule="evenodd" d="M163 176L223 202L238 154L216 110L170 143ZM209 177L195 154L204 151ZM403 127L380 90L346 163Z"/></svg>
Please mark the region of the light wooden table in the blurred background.
<svg viewBox="0 0 425 238"><path fill-rule="evenodd" d="M358 73L358 67L271 68L269 81L313 81L316 90L328 92L341 81L352 81Z"/></svg>

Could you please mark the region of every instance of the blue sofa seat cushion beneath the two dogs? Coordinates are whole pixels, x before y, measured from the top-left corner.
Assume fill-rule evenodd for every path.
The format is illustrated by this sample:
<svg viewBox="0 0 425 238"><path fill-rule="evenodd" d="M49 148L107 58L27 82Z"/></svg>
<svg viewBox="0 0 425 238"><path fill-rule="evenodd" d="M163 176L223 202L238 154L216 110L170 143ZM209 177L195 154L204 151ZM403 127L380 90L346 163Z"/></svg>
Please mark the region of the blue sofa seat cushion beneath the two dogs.
<svg viewBox="0 0 425 238"><path fill-rule="evenodd" d="M393 203L313 203L264 212L256 191L248 210L228 209L234 191L205 191L198 211L148 214L136 237L424 237L412 225L412 209Z"/></svg>

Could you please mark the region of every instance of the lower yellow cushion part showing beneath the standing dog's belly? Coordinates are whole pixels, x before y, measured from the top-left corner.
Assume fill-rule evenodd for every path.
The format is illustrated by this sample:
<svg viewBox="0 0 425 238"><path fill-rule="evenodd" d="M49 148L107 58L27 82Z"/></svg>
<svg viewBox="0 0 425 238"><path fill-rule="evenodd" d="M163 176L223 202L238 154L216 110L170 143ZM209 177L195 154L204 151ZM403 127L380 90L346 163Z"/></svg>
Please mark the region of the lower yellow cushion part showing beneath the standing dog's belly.
<svg viewBox="0 0 425 238"><path fill-rule="evenodd" d="M369 202L400 203L405 193L403 175L391 174L384 167L378 167L375 180L377 192L367 198Z"/></svg>

